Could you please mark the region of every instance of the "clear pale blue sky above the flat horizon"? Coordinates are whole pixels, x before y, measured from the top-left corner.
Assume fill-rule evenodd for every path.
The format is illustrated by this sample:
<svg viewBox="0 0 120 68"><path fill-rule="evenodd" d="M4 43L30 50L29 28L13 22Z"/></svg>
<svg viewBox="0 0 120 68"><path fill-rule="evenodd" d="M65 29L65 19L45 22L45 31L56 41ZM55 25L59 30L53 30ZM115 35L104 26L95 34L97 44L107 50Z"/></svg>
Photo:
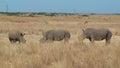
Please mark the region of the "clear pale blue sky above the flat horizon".
<svg viewBox="0 0 120 68"><path fill-rule="evenodd" d="M120 0L0 0L0 12L6 11L120 13Z"/></svg>

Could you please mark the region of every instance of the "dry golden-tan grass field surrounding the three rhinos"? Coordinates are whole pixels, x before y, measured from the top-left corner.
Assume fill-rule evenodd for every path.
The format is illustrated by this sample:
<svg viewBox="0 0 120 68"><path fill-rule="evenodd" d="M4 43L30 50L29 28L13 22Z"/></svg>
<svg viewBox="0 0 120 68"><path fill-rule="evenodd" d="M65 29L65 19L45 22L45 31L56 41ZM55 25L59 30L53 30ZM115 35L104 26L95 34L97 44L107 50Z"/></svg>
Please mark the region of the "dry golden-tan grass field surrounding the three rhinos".
<svg viewBox="0 0 120 68"><path fill-rule="evenodd" d="M80 43L82 29L89 27L108 28L113 34L110 45L105 40ZM50 29L70 31L69 42L39 42L42 32ZM9 42L13 30L26 34L25 44ZM0 68L120 68L120 15L0 14Z"/></svg>

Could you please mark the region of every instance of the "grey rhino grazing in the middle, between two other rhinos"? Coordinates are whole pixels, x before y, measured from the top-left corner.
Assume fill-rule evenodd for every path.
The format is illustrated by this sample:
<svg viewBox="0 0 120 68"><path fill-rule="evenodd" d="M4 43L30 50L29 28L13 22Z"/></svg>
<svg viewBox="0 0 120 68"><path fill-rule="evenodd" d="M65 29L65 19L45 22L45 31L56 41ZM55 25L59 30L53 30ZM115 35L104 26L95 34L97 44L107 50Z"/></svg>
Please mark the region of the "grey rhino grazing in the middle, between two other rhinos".
<svg viewBox="0 0 120 68"><path fill-rule="evenodd" d="M70 32L67 30L49 30L43 33L43 38L40 40L44 41L61 41L64 39L64 42L68 42L70 39Z"/></svg>

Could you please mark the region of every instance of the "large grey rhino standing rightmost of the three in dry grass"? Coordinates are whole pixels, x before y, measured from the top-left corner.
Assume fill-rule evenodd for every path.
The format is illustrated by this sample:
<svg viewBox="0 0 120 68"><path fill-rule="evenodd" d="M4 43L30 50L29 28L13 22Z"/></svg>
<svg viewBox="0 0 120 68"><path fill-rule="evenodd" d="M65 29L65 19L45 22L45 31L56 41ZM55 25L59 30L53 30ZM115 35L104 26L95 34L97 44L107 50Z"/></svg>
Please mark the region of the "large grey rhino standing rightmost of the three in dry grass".
<svg viewBox="0 0 120 68"><path fill-rule="evenodd" d="M106 44L110 44L110 40L112 37L112 32L108 29L94 29L94 28L87 28L83 30L83 39L87 38L89 39L92 43L94 41L99 41L99 40L106 40Z"/></svg>

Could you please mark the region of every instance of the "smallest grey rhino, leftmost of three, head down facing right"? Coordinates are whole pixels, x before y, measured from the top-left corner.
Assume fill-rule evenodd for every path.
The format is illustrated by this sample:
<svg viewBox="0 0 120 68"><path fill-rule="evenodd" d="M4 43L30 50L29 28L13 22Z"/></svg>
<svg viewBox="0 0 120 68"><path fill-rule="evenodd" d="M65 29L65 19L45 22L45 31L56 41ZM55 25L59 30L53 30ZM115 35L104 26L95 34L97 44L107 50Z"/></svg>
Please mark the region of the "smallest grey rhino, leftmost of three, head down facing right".
<svg viewBox="0 0 120 68"><path fill-rule="evenodd" d="M11 43L19 42L19 43L25 43L26 40L24 39L25 33L19 32L19 31L11 31L8 34L9 41Z"/></svg>

